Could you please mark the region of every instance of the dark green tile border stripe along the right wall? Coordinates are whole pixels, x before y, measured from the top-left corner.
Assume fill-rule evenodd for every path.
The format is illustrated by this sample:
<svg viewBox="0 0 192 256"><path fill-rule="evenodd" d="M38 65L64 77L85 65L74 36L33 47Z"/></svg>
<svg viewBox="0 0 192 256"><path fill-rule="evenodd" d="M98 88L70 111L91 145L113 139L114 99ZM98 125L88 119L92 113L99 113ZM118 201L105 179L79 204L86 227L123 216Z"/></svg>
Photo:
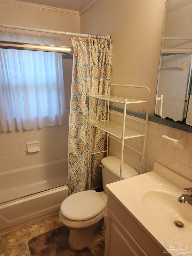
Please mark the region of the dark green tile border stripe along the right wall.
<svg viewBox="0 0 192 256"><path fill-rule="evenodd" d="M115 106L115 105L110 104L110 109L118 111L120 113L123 113L123 107L119 107L119 106ZM130 115L130 116L135 116L135 117L138 117L138 118L146 119L146 113L138 111L138 110L126 109L126 114ZM173 121L170 121L170 120L167 120L167 119L159 118L159 117L154 116L153 114L150 114L150 113L149 113L148 120L151 121L151 122L154 122L154 123L158 123L158 124L161 124L161 125L166 125L166 126L169 126L169 127L172 127L172 128L176 128L176 129L179 129L179 130L182 130L182 131L187 131L187 132L192 133L192 127L190 125L184 125L184 124L173 122Z"/></svg>

